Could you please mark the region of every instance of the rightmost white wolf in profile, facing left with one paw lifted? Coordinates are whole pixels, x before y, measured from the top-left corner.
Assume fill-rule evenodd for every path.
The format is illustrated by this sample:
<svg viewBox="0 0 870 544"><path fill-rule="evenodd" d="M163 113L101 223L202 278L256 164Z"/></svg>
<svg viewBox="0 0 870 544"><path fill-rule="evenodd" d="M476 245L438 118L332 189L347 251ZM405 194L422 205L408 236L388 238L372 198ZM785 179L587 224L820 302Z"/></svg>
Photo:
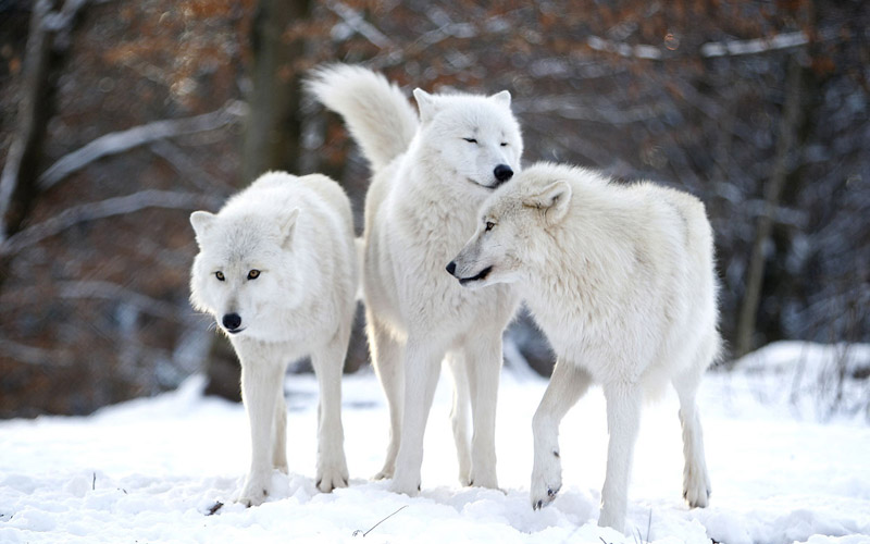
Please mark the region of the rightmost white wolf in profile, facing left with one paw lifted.
<svg viewBox="0 0 870 544"><path fill-rule="evenodd" d="M668 381L680 397L683 495L706 506L695 393L720 337L704 205L650 183L622 186L542 163L496 190L477 217L448 270L467 286L515 283L558 357L533 420L532 506L561 486L559 422L593 381L604 387L610 434L599 524L623 530L642 400Z"/></svg>

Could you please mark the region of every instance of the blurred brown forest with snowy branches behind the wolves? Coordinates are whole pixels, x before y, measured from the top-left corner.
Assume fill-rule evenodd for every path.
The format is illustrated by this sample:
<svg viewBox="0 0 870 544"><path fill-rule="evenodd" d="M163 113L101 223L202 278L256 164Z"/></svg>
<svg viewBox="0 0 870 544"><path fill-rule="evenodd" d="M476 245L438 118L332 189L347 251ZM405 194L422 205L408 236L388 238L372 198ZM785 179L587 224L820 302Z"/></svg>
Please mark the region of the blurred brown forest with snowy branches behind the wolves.
<svg viewBox="0 0 870 544"><path fill-rule="evenodd" d="M361 224L366 165L300 92L335 61L409 96L509 89L525 163L697 195L732 358L870 342L862 0L0 0L0 417L203 371L237 393L187 301L187 218L285 169L340 181ZM508 351L550 370L526 317ZM366 357L358 331L346 370Z"/></svg>

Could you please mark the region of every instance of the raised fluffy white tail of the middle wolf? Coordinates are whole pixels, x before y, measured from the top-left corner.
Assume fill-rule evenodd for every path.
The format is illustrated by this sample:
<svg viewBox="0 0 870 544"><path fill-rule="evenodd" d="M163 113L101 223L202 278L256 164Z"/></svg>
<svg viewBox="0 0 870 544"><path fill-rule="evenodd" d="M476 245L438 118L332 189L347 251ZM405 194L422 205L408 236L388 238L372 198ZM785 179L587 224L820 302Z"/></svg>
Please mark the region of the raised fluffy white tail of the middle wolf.
<svg viewBox="0 0 870 544"><path fill-rule="evenodd" d="M315 70L306 87L326 108L345 118L373 171L405 152L418 115L401 90L361 66L333 64Z"/></svg>

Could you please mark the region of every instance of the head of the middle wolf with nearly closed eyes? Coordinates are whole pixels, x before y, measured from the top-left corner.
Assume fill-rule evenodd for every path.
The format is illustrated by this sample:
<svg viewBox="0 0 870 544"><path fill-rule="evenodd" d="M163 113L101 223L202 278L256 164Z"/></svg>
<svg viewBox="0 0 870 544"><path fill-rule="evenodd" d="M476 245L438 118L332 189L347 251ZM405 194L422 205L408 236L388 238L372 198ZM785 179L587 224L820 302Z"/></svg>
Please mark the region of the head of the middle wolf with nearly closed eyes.
<svg viewBox="0 0 870 544"><path fill-rule="evenodd" d="M523 140L510 110L510 92L430 95L414 90L421 151L427 168L459 184L495 188L520 170Z"/></svg>

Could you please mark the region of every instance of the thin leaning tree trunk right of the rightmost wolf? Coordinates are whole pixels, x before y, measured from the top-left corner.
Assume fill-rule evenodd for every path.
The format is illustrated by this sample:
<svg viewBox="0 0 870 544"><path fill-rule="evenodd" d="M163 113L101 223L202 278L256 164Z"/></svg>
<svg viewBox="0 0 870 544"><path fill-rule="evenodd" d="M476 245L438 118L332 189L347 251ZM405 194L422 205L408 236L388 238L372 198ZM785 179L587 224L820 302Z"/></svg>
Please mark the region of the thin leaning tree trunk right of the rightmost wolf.
<svg viewBox="0 0 870 544"><path fill-rule="evenodd" d="M741 357L749 353L753 347L753 336L755 335L756 319L758 308L761 302L761 285L765 280L765 265L767 256L765 247L770 239L773 228L773 217L780 198L785 187L785 182L792 171L792 150L794 148L795 135L801 122L801 86L803 69L800 64L792 58L788 65L788 75L785 88L785 104L779 127L779 141L776 143L776 153L773 159L773 172L770 181L765 187L765 212L758 218L755 240L753 242L753 252L749 257L749 270L746 273L746 290L741 304L741 311L737 318L737 330L735 341L735 356Z"/></svg>

